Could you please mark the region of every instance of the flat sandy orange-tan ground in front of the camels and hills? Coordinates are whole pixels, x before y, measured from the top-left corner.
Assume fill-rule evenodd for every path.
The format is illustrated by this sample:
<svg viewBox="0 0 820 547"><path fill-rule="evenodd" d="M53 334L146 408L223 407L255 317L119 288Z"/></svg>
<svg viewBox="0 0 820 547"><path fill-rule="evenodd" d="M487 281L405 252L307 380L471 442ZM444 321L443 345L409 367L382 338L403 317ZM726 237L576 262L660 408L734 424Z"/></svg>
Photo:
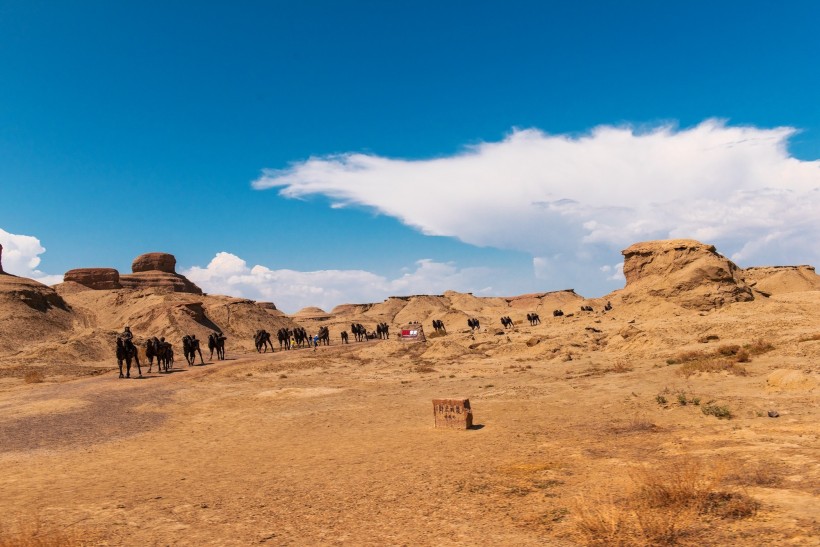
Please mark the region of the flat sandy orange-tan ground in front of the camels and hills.
<svg viewBox="0 0 820 547"><path fill-rule="evenodd" d="M809 307L778 321L811 332L816 299ZM680 544L820 545L820 340L765 318L744 332L759 312L672 317L640 351L628 333L621 350L610 339L608 351L534 351L561 328L594 340L587 323L649 332L623 316L427 344L229 347L226 361L179 359L142 380L0 378L0 518L100 545L579 545L585 509L684 461L720 467L721 488L759 508L697 517ZM718 331L721 343L768 335L776 349L746 376L685 377L665 362ZM679 392L702 402L678 404ZM456 396L476 427L435 429L432 399ZM704 414L709 401L733 419Z"/></svg>

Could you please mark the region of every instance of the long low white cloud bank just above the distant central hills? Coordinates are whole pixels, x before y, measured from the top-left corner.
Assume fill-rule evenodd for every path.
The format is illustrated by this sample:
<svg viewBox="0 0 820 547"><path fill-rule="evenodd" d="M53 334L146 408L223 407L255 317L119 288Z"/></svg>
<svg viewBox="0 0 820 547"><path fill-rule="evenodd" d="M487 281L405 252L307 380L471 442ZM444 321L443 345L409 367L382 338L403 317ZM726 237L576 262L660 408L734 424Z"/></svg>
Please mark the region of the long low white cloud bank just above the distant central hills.
<svg viewBox="0 0 820 547"><path fill-rule="evenodd" d="M182 273L205 292L272 301L288 313L306 306L330 311L338 304L376 302L395 295L495 290L491 284L495 272L490 268L458 268L429 259L418 260L413 268L389 279L365 270L271 270L248 266L240 257L220 252L206 267L194 266Z"/></svg>

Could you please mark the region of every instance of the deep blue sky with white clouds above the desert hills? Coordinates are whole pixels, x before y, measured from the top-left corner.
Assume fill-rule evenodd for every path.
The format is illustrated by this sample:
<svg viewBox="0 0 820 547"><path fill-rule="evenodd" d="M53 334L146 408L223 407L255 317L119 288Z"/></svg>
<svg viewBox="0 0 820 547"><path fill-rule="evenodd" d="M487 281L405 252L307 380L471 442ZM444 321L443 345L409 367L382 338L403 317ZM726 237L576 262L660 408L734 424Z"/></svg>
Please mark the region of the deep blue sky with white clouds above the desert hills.
<svg viewBox="0 0 820 547"><path fill-rule="evenodd" d="M5 269L303 306L820 262L815 2L0 0ZM412 189L412 191L408 190Z"/></svg>

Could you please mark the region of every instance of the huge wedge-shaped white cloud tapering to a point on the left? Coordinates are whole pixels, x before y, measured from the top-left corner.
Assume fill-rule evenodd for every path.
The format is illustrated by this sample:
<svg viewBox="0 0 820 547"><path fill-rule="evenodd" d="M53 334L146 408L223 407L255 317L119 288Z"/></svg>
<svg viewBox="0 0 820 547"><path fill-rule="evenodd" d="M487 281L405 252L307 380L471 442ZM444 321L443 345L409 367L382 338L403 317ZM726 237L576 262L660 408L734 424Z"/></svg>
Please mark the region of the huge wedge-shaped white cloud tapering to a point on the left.
<svg viewBox="0 0 820 547"><path fill-rule="evenodd" d="M720 120L583 135L514 130L443 158L314 157L266 169L253 186L525 251L537 278L602 293L622 279L602 267L647 239L699 239L748 265L816 263L820 162L789 155L795 132Z"/></svg>

